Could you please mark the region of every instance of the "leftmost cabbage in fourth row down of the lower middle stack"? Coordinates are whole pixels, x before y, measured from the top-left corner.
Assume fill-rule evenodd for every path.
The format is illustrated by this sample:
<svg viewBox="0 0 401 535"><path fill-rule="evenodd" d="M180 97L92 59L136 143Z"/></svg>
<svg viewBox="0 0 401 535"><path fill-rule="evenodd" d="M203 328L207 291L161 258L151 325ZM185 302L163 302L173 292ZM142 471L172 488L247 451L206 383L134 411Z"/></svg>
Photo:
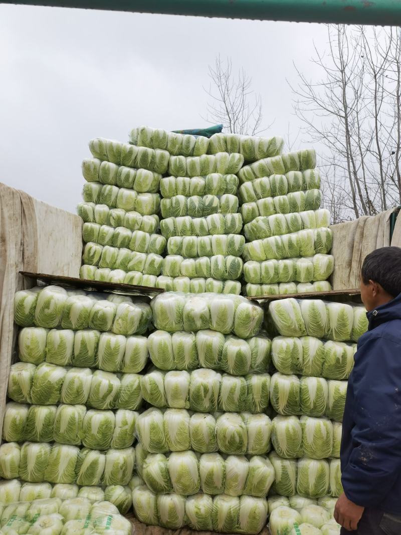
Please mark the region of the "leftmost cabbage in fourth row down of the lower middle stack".
<svg viewBox="0 0 401 535"><path fill-rule="evenodd" d="M163 413L151 407L136 419L138 440L149 453L168 452L168 445L164 433Z"/></svg>

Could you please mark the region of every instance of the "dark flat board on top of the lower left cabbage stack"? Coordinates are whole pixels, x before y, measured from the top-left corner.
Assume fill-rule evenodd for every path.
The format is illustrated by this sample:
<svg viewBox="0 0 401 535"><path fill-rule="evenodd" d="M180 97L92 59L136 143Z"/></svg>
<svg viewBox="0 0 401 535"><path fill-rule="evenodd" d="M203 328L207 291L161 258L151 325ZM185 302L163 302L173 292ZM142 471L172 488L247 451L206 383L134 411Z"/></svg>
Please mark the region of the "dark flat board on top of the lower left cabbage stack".
<svg viewBox="0 0 401 535"><path fill-rule="evenodd" d="M49 275L45 273L30 273L20 271L20 274L30 280L44 282L44 284L54 284L64 288L82 289L89 292L107 292L123 295L137 295L155 297L164 292L163 288L153 288L151 286L136 286L132 284L118 284L117 282L103 282L98 280L78 279L76 277L64 277L60 275Z"/></svg>

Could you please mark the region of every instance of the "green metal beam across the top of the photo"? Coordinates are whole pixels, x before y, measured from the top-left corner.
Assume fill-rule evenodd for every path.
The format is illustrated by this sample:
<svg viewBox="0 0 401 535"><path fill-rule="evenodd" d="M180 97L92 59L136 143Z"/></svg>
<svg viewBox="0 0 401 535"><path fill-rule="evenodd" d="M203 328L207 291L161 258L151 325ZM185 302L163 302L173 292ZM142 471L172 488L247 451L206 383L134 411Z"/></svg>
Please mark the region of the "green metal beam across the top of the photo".
<svg viewBox="0 0 401 535"><path fill-rule="evenodd" d="M401 26L401 0L2 0L0 3L229 19Z"/></svg>

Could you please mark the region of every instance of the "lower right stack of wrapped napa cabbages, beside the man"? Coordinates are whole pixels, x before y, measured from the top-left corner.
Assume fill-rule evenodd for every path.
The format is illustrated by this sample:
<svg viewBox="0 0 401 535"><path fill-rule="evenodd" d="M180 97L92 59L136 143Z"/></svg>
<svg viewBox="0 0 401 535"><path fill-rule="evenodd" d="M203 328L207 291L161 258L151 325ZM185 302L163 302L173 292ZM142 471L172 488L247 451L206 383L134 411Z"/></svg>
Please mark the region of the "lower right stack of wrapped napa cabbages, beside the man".
<svg viewBox="0 0 401 535"><path fill-rule="evenodd" d="M274 452L269 455L275 469L273 491L289 497L289 503L279 502L279 506L290 505L300 513L300 528L311 524L320 530L327 522L314 509L316 500L325 501L331 510L333 500L327 496L335 498L343 492L341 422L354 342L367 330L366 312L359 305L289 298L272 301L267 316L267 325L277 334L271 349L277 371L269 392L277 413L272 419ZM303 515L305 499L315 503L307 503L308 514ZM284 520L287 513L284 510ZM274 518L272 533L287 529L280 518ZM322 532L337 533L336 526L327 530Z"/></svg>

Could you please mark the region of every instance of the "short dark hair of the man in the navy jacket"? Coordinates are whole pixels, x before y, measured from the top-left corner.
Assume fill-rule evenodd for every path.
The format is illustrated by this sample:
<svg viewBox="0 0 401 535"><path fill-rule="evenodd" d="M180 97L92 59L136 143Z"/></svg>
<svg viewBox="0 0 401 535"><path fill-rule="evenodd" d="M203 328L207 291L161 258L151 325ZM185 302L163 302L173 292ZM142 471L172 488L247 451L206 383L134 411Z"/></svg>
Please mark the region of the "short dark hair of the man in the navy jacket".
<svg viewBox="0 0 401 535"><path fill-rule="evenodd" d="M392 297L401 293L401 248L382 247L369 253L361 269L364 284L378 282Z"/></svg>

